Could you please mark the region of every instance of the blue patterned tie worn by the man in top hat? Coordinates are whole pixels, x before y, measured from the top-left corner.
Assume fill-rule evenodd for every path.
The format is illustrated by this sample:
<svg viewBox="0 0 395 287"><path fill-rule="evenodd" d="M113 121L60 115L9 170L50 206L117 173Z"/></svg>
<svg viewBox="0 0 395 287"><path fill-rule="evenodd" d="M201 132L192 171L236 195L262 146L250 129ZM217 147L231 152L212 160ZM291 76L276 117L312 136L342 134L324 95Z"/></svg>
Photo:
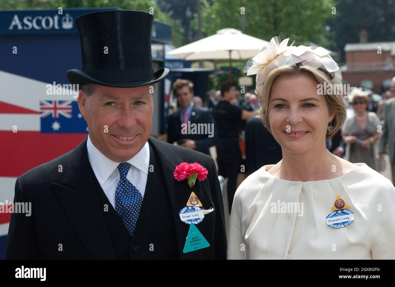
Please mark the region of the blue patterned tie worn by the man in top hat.
<svg viewBox="0 0 395 287"><path fill-rule="evenodd" d="M133 236L136 227L137 218L139 217L143 196L137 188L126 179L130 163L121 162L118 166L120 179L115 192L115 211L117 211L123 224Z"/></svg>

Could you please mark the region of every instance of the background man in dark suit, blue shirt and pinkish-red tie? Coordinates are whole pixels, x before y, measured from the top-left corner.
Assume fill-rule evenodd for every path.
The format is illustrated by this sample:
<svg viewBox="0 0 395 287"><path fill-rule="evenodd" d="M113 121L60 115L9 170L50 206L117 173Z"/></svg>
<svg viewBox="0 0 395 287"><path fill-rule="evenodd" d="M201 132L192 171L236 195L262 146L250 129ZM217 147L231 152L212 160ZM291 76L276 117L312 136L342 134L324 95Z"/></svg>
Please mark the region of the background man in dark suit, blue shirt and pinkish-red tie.
<svg viewBox="0 0 395 287"><path fill-rule="evenodd" d="M173 84L173 94L177 97L179 108L167 118L167 142L177 142L183 147L210 155L209 148L214 145L216 135L214 118L207 108L193 103L193 87L194 84L191 81L183 79L177 79ZM198 128L198 131L203 133L185 133L183 127L188 127L188 125L196 125L196 127L200 125L203 129Z"/></svg>

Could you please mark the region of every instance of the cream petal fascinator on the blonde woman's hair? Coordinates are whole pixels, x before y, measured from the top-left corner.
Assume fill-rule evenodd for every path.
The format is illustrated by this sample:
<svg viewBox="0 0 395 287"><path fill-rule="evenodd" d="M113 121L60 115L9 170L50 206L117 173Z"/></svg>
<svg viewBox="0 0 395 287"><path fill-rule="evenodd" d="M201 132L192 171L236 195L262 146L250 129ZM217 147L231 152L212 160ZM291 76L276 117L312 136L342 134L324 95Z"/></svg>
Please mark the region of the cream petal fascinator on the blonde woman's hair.
<svg viewBox="0 0 395 287"><path fill-rule="evenodd" d="M289 38L280 42L280 36L273 37L270 42L254 57L248 60L243 72L249 75L256 74L256 92L262 99L263 83L267 75L277 67L287 64L309 66L314 69L322 69L329 73L331 84L335 84L338 95L342 94L342 73L337 63L329 56L329 51L322 47L306 47L303 45L287 46Z"/></svg>

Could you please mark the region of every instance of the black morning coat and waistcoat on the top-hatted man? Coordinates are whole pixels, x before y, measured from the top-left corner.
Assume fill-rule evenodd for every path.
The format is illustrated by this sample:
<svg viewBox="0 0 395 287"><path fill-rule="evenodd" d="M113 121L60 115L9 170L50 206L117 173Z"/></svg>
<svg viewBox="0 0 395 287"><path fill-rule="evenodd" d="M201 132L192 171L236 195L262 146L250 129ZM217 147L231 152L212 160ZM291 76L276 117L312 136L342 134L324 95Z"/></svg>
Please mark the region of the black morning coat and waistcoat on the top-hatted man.
<svg viewBox="0 0 395 287"><path fill-rule="evenodd" d="M222 194L214 160L186 147L149 140L150 168L133 237L106 198L87 152L75 149L17 178L14 202L31 202L31 216L13 213L6 259L226 259ZM207 178L189 188L173 172L181 162L198 162ZM62 172L59 172L62 165ZM190 225L179 211L195 192L203 209L196 225L210 246L183 253ZM107 205L107 211L105 211Z"/></svg>

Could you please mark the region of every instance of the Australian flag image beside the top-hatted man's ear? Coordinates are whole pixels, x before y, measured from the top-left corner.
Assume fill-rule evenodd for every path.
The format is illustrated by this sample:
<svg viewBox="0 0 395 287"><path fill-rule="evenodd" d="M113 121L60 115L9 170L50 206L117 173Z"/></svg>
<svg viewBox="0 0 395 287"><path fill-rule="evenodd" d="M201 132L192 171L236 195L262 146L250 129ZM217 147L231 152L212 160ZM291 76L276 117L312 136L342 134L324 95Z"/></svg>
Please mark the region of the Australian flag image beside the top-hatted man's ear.
<svg viewBox="0 0 395 287"><path fill-rule="evenodd" d="M87 134L77 101L40 101L41 133Z"/></svg>

